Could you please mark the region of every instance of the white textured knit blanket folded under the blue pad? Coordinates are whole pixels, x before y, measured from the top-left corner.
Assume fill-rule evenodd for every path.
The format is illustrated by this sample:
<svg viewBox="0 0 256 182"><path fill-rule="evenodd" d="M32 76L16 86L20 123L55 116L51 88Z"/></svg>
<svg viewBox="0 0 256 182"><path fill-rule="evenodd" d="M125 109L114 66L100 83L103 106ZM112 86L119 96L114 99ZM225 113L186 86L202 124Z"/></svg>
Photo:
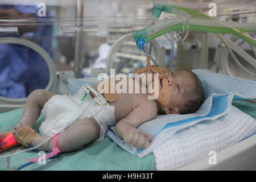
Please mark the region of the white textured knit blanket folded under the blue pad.
<svg viewBox="0 0 256 182"><path fill-rule="evenodd" d="M221 151L256 132L256 121L232 106L229 113L181 130L153 153L156 170L173 170Z"/></svg>

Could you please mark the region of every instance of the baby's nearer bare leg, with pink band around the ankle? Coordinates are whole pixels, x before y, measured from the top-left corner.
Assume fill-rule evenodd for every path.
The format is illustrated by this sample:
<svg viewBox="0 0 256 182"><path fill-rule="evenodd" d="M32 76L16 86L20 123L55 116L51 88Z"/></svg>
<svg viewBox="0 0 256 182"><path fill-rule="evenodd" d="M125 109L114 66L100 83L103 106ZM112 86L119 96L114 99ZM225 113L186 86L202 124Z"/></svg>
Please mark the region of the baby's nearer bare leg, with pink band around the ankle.
<svg viewBox="0 0 256 182"><path fill-rule="evenodd" d="M63 152L76 150L86 143L95 141L100 135L100 125L94 118L79 119L72 123L59 137L57 146ZM35 147L49 137L39 136L31 142ZM38 150L49 151L53 147L52 139L38 147Z"/></svg>

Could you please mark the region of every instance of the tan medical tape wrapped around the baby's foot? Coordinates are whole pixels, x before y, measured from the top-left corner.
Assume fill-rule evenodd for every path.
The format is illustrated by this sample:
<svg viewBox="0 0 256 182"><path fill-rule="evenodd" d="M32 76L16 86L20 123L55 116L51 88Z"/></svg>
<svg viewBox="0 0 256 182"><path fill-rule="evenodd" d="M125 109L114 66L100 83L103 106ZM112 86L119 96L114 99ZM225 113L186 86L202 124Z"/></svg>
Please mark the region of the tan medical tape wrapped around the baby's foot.
<svg viewBox="0 0 256 182"><path fill-rule="evenodd" d="M29 126L23 126L15 136L15 140L27 147L39 134Z"/></svg>

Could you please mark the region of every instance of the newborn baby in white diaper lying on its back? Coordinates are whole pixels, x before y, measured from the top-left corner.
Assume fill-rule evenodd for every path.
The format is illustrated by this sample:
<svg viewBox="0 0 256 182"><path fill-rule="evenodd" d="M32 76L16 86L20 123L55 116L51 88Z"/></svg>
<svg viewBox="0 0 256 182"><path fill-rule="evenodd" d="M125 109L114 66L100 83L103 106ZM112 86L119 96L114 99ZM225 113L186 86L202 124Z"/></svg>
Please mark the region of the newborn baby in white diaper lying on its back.
<svg viewBox="0 0 256 182"><path fill-rule="evenodd" d="M135 88L134 85L139 85L140 90L145 86L141 81L135 79L123 79L127 79L127 82L131 81L133 89ZM161 104L162 102L160 103L157 99L148 100L148 96L152 95L148 92L117 93L117 101L106 102L103 97L106 97L105 94L97 94L100 92L98 85L90 88L90 90L94 89L94 93L86 91L90 86L84 85L74 96L55 95L42 89L34 90L27 98L20 121L11 129L11 132L15 139L19 138L18 142L25 140L24 144L20 142L24 146L28 146L28 144L34 147L38 146L55 134L59 128L61 129L62 126L67 126L69 122L75 121L77 114L72 115L72 111L84 110L89 105L89 101L92 101L97 94L97 96L101 96L101 101L89 105L88 111L62 131L58 138L55 138L55 142L53 137L39 146L38 150L50 151L56 146L61 152L76 150L89 142L98 142L104 139L104 135L111 125L115 125L117 135L130 146L147 147L152 136L139 130L137 128L139 125L155 119L158 113L193 113L199 109L204 101L203 87L195 73L187 69L169 71L166 80L168 81L169 92L169 101L166 102L166 105ZM162 80L155 81L159 82L160 85L159 95L163 95ZM118 80L115 81L115 84L118 82ZM129 86L130 84L127 86L127 90L129 90ZM146 85L147 87L148 85ZM42 134L40 136L31 128L38 119L41 109L43 109L43 116L46 121L40 126L40 133ZM61 118L64 119L58 119L60 114L62 114Z"/></svg>

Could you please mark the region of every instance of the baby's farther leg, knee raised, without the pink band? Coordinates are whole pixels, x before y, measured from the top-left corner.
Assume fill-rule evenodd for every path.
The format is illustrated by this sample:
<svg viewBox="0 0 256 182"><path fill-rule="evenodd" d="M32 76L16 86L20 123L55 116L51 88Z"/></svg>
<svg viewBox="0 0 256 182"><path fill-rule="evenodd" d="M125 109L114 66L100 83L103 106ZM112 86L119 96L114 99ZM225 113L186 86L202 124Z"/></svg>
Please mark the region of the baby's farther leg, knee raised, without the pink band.
<svg viewBox="0 0 256 182"><path fill-rule="evenodd" d="M44 104L55 94L48 92L43 89L36 89L29 94L27 101L22 113L20 121L16 123L16 126L11 129L15 135L22 126L34 126L36 120L39 118L41 109L43 109Z"/></svg>

